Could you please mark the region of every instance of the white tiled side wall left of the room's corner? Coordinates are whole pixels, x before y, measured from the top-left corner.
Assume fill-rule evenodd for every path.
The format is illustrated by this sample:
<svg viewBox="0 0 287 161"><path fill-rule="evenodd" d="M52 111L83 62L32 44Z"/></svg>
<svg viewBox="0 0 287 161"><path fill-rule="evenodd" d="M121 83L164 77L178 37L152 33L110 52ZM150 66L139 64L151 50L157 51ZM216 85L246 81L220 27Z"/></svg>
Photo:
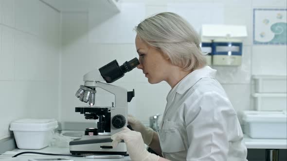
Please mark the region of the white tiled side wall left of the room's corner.
<svg viewBox="0 0 287 161"><path fill-rule="evenodd" d="M20 118L58 119L60 13L39 0L0 0L0 139Z"/></svg>

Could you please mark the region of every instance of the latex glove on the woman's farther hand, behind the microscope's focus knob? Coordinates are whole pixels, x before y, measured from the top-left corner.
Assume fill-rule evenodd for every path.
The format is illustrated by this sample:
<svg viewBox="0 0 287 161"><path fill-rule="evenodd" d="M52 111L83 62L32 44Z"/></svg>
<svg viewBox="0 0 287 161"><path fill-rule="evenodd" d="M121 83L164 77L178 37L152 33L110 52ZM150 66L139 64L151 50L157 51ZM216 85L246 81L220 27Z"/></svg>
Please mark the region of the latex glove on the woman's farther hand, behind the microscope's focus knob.
<svg viewBox="0 0 287 161"><path fill-rule="evenodd" d="M142 136L143 136L143 142L146 145L149 145L152 141L153 135L154 133L156 133L156 131L154 131L151 128L148 128L146 126L144 126L141 121L137 120L134 116L132 115L128 115L127 116L127 123L131 126L132 129L134 129L135 131L141 132Z"/></svg>

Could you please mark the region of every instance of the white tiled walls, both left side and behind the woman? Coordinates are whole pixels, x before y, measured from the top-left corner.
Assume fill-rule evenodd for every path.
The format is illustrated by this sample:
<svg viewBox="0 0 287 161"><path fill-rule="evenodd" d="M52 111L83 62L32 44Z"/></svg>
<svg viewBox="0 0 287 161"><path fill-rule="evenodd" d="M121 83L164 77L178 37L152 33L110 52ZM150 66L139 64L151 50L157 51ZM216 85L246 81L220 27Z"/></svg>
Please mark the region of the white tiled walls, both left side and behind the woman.
<svg viewBox="0 0 287 161"><path fill-rule="evenodd" d="M87 105L74 97L79 85L83 84L83 75L114 59L123 64L136 57L134 42L130 41L135 34L114 31L126 31L126 26L135 26L135 20L155 13L182 10L179 14L194 26L211 20L247 26L249 36L243 42L242 65L214 66L216 78L236 111L253 109L250 103L252 74L287 72L286 46L252 44L253 8L286 8L286 0L121 0L121 3L128 3L122 7L134 5L141 13L125 10L122 14L129 16L119 13L112 17L87 12L58 13L40 0L0 0L0 139L9 136L9 123L19 118L89 121L74 112L74 107ZM196 10L188 14L188 9L183 10L180 6L194 6ZM195 11L200 11L200 15ZM115 17L122 18L126 24L107 25L117 24L113 22ZM111 43L103 40L103 43L96 37L98 32L94 32L97 22L107 26L108 30L100 32L103 38L106 34L112 40L111 33L130 37L123 37L125 43L119 41L121 37ZM145 123L150 115L163 112L170 90L165 82L149 84L138 69L126 73L113 84L128 91L135 89L128 110ZM103 95L96 97L96 103L110 106L112 95L102 90L98 92Z"/></svg>

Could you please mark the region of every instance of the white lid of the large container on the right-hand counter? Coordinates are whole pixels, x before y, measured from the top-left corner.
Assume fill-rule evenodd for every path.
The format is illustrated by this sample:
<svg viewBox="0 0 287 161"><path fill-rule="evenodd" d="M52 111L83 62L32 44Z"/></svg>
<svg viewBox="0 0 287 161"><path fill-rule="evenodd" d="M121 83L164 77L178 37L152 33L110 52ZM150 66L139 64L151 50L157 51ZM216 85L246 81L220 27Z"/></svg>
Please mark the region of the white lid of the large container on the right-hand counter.
<svg viewBox="0 0 287 161"><path fill-rule="evenodd" d="M244 111L243 121L246 122L282 122L286 123L287 114L281 112L267 112L267 111Z"/></svg>

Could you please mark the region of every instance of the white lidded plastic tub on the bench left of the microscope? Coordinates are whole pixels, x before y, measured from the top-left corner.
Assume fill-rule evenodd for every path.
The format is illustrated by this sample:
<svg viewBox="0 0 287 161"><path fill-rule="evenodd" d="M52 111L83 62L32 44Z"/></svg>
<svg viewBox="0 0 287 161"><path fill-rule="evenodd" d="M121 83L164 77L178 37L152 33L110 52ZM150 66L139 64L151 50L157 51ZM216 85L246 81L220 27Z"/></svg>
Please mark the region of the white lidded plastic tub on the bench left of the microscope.
<svg viewBox="0 0 287 161"><path fill-rule="evenodd" d="M21 119L12 121L10 130L20 149L41 149L48 146L58 127L54 119Z"/></svg>

